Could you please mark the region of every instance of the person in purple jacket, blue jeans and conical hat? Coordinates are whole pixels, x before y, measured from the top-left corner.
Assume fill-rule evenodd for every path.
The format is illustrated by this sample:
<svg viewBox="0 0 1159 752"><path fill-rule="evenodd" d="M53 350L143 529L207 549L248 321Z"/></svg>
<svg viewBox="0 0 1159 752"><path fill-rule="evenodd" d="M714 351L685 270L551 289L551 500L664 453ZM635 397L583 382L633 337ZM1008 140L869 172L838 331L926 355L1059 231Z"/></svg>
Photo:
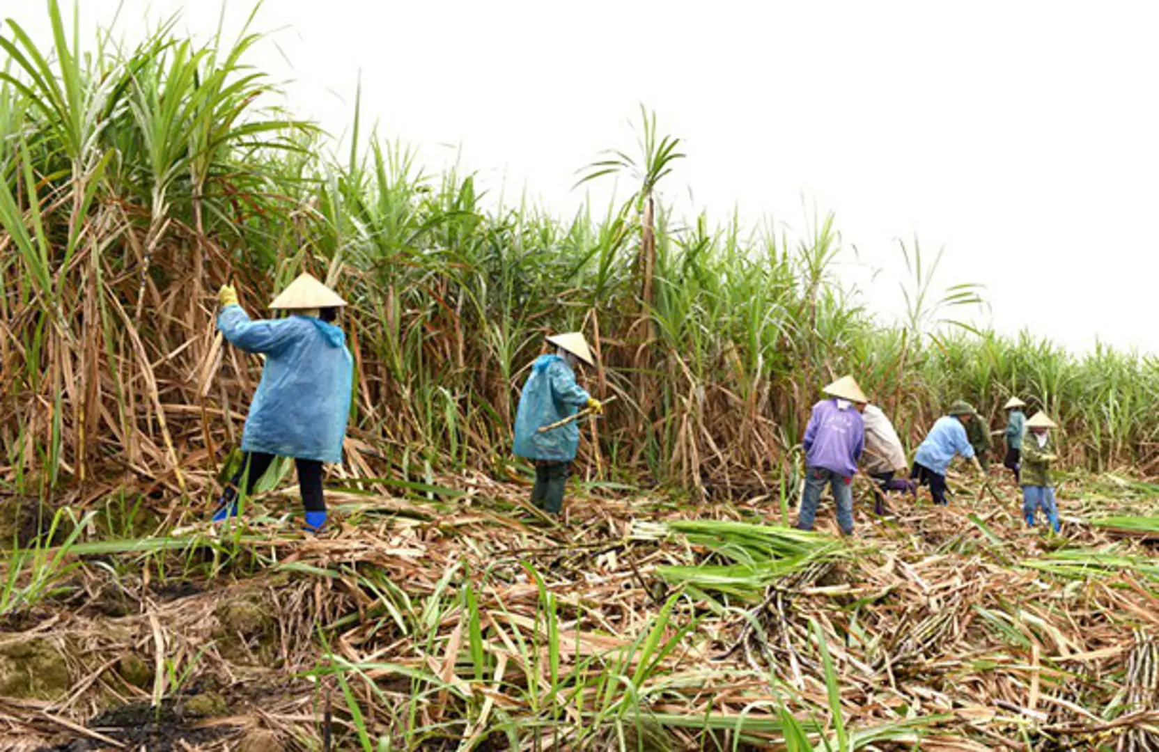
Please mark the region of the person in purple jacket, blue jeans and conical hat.
<svg viewBox="0 0 1159 752"><path fill-rule="evenodd" d="M828 396L812 406L802 441L806 476L797 527L812 530L821 491L829 483L837 503L837 525L850 535L853 533L853 489L850 483L865 448L861 411L869 399L853 377L841 377L822 392Z"/></svg>

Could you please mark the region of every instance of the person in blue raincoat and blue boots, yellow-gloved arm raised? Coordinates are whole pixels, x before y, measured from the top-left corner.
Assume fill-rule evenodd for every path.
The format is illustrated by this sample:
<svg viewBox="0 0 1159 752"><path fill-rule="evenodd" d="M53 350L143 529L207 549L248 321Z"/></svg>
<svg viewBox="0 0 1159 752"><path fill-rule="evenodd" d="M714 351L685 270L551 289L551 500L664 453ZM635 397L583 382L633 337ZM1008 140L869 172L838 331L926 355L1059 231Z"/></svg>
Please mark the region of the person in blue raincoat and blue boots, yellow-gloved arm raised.
<svg viewBox="0 0 1159 752"><path fill-rule="evenodd" d="M308 273L282 291L270 308L290 316L250 321L229 285L218 293L221 335L246 352L265 356L241 438L241 470L220 498L213 521L238 513L238 488L250 494L275 457L292 457L306 509L306 528L326 523L322 463L342 461L350 414L353 360L342 329L331 323L345 301Z"/></svg>

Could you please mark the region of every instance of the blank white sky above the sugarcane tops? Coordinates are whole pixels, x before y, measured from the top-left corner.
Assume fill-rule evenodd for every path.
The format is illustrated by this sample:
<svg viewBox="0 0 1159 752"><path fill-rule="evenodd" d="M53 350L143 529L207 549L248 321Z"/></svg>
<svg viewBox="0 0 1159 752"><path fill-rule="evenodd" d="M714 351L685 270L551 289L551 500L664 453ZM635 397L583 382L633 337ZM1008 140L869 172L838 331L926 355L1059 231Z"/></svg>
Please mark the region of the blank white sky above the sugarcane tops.
<svg viewBox="0 0 1159 752"><path fill-rule="evenodd" d="M204 37L220 12L121 5L129 39L177 10ZM118 1L80 6L92 29ZM44 8L0 0L46 44ZM252 8L231 2L226 28ZM634 145L642 102L688 154L665 202L794 233L836 212L872 309L901 309L897 240L917 234L946 247L942 284L986 285L999 330L1159 352L1157 21L1120 1L267 0L250 63L336 137L360 71L364 126L432 170L461 145L486 187L556 214L584 199L577 168Z"/></svg>

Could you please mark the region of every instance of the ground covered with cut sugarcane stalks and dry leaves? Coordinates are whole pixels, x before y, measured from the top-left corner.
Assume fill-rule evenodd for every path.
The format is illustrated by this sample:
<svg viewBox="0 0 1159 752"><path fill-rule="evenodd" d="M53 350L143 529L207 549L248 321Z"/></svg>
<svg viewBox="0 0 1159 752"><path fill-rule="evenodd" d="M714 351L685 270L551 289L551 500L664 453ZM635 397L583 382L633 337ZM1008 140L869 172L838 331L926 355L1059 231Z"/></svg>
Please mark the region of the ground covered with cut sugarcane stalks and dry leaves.
<svg viewBox="0 0 1159 752"><path fill-rule="evenodd" d="M191 749L1156 749L1154 549L1088 524L1156 502L1070 481L1054 536L971 483L885 519L859 501L844 540L829 502L802 533L770 498L584 496L556 526L482 477L336 492L319 539L276 494L235 540L79 538L72 589L0 635L0 666L49 647L67 691L0 677L0 742L137 749L152 727L108 711L155 703Z"/></svg>

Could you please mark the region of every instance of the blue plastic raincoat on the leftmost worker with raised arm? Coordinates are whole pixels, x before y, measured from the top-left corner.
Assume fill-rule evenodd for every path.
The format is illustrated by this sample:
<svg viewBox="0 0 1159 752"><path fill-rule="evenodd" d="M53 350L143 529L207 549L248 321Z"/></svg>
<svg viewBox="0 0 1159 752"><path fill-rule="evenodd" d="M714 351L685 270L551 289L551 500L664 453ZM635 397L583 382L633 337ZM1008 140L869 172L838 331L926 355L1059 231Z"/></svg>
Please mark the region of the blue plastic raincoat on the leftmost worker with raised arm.
<svg viewBox="0 0 1159 752"><path fill-rule="evenodd" d="M246 352L265 355L242 451L341 462L353 381L342 329L312 316L250 321L240 306L221 309L218 329Z"/></svg>

